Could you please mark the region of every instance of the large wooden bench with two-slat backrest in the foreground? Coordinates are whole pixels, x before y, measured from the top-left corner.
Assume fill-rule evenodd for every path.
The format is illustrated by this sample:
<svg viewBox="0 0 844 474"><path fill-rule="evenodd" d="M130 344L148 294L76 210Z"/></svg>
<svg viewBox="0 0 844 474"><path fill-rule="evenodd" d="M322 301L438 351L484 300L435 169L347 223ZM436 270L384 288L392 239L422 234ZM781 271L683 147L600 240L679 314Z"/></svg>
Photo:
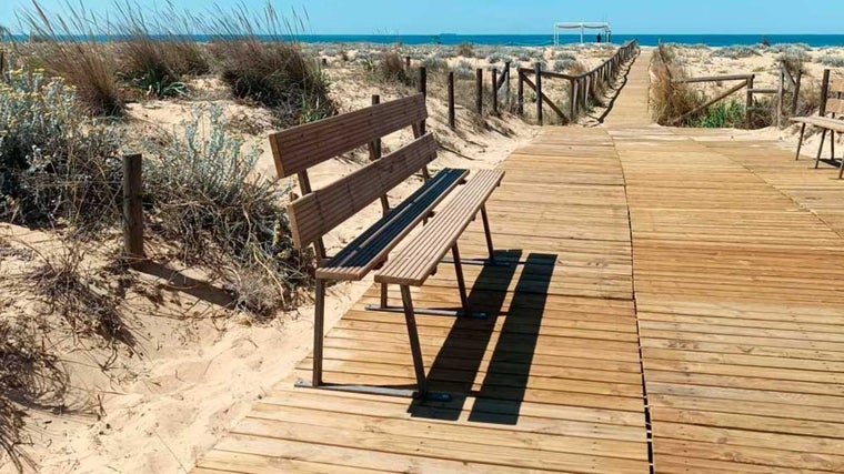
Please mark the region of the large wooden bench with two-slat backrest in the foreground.
<svg viewBox="0 0 844 474"><path fill-rule="evenodd" d="M501 183L504 173L498 170L470 173L466 170L444 169L431 177L428 164L436 158L438 144L433 135L423 134L428 118L424 97L416 94L396 101L372 105L351 113L319 122L294 127L270 137L279 177L297 175L302 196L293 196L288 205L293 242L298 249L313 244L318 265L315 271L315 309L312 386L354 392L392 395L448 397L428 391L424 364L419 343L415 314L471 315L463 279L458 239L480 212L483 218L489 259L482 263L495 263L485 211L486 199ZM411 127L411 143L381 157L380 140L400 129ZM308 170L326 161L368 145L371 162L325 186L313 190ZM408 199L391 205L388 192L416 172L424 183ZM471 175L470 175L471 174ZM451 198L443 203L445 198ZM382 204L382 218L363 231L335 255L325 254L323 235L358 214L378 200ZM433 211L436 210L434 213ZM390 259L390 252L421 222L423 229L408 245ZM461 311L414 309L410 286L420 286L443 262L451 250L459 281L463 307ZM373 270L382 268L375 280L381 283L381 303L369 310L403 312L408 325L410 350L416 373L416 391L394 387L331 384L323 381L323 337L325 312L325 285L329 281L360 281ZM388 285L401 286L402 305L390 306Z"/></svg>

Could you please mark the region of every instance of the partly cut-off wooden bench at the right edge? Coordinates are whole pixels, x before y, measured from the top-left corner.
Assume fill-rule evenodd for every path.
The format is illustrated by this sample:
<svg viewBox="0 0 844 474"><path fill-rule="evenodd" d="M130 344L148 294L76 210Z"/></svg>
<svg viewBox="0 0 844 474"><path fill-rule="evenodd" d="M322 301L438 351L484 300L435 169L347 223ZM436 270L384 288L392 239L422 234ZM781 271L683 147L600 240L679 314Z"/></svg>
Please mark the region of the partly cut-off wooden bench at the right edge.
<svg viewBox="0 0 844 474"><path fill-rule="evenodd" d="M815 159L815 168L821 164L821 155L823 154L824 141L826 140L826 133L830 132L830 158L835 160L835 132L844 133L844 120L838 117L844 113L844 100L842 100L842 93L844 93L844 79L835 78L831 79L831 71L824 70L823 82L821 83L821 110L816 117L795 117L790 119L794 123L801 123L800 140L797 141L797 155L795 160L800 160L800 151L803 148L803 137L806 133L806 125L817 127L823 129L821 135L821 145L817 148L817 158ZM831 95L832 94L832 95ZM830 117L827 117L830 115ZM841 161L838 168L838 179L844 177L844 158Z"/></svg>

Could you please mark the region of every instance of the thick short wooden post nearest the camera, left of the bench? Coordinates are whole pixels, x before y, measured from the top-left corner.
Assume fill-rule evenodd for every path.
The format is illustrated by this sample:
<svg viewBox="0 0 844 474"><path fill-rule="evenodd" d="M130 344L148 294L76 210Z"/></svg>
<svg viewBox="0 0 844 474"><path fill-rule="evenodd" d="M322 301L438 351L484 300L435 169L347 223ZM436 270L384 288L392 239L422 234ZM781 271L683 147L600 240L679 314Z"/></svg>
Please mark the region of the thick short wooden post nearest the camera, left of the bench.
<svg viewBox="0 0 844 474"><path fill-rule="evenodd" d="M143 259L142 158L123 157L123 249L132 261Z"/></svg>

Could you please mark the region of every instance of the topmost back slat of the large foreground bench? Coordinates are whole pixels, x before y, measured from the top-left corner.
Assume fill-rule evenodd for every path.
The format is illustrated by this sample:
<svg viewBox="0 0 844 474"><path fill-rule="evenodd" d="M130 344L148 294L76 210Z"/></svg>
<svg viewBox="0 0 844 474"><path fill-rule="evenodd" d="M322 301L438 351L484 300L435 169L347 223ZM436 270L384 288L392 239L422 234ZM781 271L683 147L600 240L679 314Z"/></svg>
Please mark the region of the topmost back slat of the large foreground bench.
<svg viewBox="0 0 844 474"><path fill-rule="evenodd" d="M428 109L420 93L273 133L275 170L279 178L307 171L425 119Z"/></svg>

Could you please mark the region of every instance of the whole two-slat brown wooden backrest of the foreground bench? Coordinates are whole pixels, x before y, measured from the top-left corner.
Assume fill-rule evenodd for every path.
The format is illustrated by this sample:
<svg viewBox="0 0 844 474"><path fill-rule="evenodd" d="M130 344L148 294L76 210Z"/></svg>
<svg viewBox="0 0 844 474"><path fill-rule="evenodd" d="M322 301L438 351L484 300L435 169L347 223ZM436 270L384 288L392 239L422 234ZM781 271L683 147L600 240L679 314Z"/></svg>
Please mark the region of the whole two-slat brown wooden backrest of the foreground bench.
<svg viewBox="0 0 844 474"><path fill-rule="evenodd" d="M301 198L289 205L291 233L297 248L309 244L324 255L322 236L384 196L391 189L426 170L436 158L436 141L419 135L428 118L424 97L399 99L366 109L308 123L270 135L280 178L299 179ZM415 140L381 158L375 149L381 138L413 127ZM374 161L319 190L312 190L308 170L332 158L369 145Z"/></svg>

